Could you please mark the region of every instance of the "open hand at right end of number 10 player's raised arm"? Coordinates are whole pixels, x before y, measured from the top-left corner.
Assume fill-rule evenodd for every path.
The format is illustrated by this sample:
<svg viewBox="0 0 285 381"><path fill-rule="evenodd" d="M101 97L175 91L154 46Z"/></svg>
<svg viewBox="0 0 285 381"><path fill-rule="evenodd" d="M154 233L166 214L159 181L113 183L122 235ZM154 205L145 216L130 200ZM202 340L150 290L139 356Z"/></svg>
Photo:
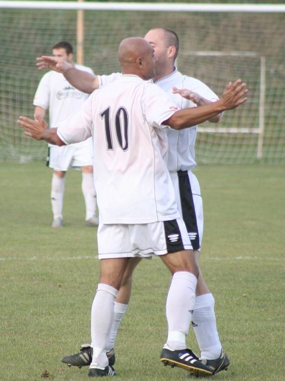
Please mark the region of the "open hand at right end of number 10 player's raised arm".
<svg viewBox="0 0 285 381"><path fill-rule="evenodd" d="M226 110L232 110L247 101L247 97L244 97L247 93L246 84L238 79L227 84L220 101Z"/></svg>

